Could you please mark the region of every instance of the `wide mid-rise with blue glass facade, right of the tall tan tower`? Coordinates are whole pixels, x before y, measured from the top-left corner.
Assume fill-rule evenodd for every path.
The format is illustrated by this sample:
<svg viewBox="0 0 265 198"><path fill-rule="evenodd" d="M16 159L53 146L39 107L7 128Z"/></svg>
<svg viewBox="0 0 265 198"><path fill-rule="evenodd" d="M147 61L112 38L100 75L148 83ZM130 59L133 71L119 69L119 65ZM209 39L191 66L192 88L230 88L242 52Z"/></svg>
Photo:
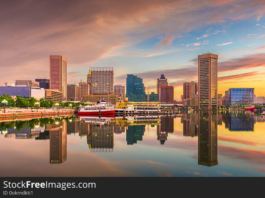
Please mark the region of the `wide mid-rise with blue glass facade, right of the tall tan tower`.
<svg viewBox="0 0 265 198"><path fill-rule="evenodd" d="M225 93L225 104L227 107L254 104L254 88L230 88Z"/></svg>

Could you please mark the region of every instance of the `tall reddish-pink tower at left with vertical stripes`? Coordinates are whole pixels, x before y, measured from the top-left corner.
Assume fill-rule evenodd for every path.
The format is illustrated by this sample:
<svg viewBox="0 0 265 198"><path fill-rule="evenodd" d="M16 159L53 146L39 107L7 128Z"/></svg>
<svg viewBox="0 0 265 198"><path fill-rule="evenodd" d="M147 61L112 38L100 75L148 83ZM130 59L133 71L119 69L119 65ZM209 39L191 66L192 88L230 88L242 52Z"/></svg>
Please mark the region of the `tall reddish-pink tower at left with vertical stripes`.
<svg viewBox="0 0 265 198"><path fill-rule="evenodd" d="M67 100L67 59L61 55L50 55L50 89L63 93Z"/></svg>

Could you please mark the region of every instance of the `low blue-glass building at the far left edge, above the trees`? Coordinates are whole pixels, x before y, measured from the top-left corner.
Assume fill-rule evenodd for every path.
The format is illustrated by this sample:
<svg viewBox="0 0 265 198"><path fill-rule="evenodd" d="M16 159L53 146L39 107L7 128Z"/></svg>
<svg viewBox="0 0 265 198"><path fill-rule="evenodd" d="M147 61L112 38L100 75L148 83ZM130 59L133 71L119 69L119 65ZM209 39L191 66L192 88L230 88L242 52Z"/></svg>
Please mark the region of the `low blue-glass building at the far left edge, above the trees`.
<svg viewBox="0 0 265 198"><path fill-rule="evenodd" d="M22 86L0 86L0 96L8 94L9 96L21 96L30 98L31 97L31 87Z"/></svg>

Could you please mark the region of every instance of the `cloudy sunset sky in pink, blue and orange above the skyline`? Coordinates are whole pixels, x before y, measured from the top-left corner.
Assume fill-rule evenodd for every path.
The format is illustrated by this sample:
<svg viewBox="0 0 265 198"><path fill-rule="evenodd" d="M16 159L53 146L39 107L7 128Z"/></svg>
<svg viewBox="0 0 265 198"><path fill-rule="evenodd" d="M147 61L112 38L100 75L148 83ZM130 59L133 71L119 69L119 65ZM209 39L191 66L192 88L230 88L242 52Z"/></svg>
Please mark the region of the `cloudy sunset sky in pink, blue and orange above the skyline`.
<svg viewBox="0 0 265 198"><path fill-rule="evenodd" d="M198 55L218 55L218 93L253 87L265 96L264 0L2 1L0 85L49 78L49 56L67 58L67 83L89 67L113 67L143 78L156 93L164 74L174 86L198 81Z"/></svg>

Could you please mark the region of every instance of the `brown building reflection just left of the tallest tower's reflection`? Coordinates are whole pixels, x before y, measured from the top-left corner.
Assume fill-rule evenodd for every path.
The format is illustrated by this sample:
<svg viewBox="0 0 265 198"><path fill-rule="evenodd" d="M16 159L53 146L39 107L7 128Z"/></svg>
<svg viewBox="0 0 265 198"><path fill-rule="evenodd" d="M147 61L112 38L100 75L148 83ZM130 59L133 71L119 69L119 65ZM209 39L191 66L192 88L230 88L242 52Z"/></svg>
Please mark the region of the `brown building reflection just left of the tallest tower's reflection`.
<svg viewBox="0 0 265 198"><path fill-rule="evenodd" d="M185 114L181 117L181 123L183 123L183 135L196 137L198 136L198 112Z"/></svg>

